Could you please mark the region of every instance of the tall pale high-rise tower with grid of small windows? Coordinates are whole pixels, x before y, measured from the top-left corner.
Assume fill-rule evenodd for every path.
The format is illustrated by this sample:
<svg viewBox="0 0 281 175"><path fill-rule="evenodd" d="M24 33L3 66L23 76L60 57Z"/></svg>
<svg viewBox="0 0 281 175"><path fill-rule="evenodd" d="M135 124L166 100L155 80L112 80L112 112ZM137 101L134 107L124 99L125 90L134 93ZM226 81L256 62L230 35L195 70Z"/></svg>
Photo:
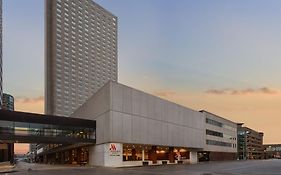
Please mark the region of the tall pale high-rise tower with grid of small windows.
<svg viewBox="0 0 281 175"><path fill-rule="evenodd" d="M117 81L117 17L92 0L45 3L45 113L69 116Z"/></svg>

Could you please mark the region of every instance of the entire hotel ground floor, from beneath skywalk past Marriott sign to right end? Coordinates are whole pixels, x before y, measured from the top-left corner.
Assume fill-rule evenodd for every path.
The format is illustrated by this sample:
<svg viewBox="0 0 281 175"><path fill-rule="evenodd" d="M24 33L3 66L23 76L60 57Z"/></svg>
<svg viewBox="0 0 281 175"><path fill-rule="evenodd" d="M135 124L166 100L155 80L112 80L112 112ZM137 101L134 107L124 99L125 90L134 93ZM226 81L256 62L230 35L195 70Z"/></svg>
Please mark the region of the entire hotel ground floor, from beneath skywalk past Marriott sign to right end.
<svg viewBox="0 0 281 175"><path fill-rule="evenodd" d="M194 148L129 143L49 144L38 149L36 162L106 167L194 164L198 162L197 152Z"/></svg>

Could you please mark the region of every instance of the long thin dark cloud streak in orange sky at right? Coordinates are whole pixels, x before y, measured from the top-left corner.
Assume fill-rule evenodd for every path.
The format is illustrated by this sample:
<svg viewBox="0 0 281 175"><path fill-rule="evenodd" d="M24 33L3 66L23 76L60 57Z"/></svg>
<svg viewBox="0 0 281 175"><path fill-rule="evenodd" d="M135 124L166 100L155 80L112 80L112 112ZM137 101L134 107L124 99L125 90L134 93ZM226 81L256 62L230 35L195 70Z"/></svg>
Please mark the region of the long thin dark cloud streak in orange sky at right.
<svg viewBox="0 0 281 175"><path fill-rule="evenodd" d="M247 94L278 94L279 92L277 90L268 88L268 87L262 87L262 88L247 88L247 89L209 89L206 91L208 94L214 94L214 95L224 95L224 94L230 94L230 95L247 95Z"/></svg>

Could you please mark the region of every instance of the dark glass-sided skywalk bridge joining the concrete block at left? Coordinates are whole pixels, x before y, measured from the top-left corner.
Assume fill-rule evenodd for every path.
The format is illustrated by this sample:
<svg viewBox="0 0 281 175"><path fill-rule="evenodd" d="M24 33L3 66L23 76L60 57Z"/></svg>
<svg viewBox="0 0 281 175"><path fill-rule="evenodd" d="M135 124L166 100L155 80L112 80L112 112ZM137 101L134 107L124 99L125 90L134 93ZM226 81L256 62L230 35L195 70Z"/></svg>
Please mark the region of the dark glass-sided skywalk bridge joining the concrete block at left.
<svg viewBox="0 0 281 175"><path fill-rule="evenodd" d="M0 138L19 143L95 143L96 122L0 110Z"/></svg>

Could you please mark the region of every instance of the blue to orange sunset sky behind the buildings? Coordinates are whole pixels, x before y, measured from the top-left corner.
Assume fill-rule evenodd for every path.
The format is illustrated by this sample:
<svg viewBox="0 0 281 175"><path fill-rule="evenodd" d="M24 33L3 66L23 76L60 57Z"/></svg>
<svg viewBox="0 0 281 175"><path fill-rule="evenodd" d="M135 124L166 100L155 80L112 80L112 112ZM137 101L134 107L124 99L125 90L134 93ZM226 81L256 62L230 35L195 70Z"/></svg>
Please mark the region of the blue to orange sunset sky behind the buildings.
<svg viewBox="0 0 281 175"><path fill-rule="evenodd" d="M118 17L119 82L281 143L281 1L96 0ZM3 0L4 91L43 113L44 1Z"/></svg>

